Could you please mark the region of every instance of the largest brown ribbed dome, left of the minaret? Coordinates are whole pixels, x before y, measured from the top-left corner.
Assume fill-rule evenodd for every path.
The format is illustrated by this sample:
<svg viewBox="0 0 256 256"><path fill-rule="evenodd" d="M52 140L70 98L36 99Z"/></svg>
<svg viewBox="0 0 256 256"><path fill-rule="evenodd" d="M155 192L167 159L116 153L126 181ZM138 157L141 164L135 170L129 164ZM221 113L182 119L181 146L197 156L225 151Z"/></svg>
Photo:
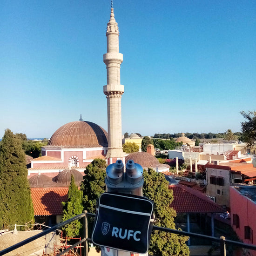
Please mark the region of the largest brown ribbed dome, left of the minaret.
<svg viewBox="0 0 256 256"><path fill-rule="evenodd" d="M108 147L108 133L89 121L64 124L54 132L47 148L98 148Z"/></svg>

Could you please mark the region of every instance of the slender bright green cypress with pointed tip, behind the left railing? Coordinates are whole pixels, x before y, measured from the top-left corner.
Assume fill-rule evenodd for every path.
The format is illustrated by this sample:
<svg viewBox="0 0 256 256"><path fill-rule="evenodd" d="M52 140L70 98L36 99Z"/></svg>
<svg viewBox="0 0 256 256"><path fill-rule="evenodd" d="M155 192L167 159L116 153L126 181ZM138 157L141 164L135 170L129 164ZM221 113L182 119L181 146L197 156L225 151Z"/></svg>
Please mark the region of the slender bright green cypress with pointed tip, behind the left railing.
<svg viewBox="0 0 256 256"><path fill-rule="evenodd" d="M82 206L83 192L78 189L74 183L74 176L71 175L70 186L68 187L67 202L62 202L63 217L62 222L81 214L83 212ZM82 224L80 220L76 220L64 226L64 230L67 237L78 237L81 234Z"/></svg>

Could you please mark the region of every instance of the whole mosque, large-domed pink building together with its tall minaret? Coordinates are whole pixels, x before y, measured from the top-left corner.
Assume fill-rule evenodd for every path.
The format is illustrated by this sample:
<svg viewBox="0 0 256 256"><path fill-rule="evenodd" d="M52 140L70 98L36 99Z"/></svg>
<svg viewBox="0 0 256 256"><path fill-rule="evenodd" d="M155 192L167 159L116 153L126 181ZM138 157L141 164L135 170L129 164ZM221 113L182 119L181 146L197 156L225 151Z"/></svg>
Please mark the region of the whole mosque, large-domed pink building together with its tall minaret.
<svg viewBox="0 0 256 256"><path fill-rule="evenodd" d="M103 92L107 97L108 133L89 121L69 122L57 129L48 145L42 147L42 156L31 161L28 177L45 174L57 176L61 171L75 168L83 173L95 158L107 159L108 164L121 159L122 150L121 96L124 86L120 84L120 65L123 57L119 53L119 30L115 21L113 2L107 25L107 53L103 61L107 68L107 85Z"/></svg>

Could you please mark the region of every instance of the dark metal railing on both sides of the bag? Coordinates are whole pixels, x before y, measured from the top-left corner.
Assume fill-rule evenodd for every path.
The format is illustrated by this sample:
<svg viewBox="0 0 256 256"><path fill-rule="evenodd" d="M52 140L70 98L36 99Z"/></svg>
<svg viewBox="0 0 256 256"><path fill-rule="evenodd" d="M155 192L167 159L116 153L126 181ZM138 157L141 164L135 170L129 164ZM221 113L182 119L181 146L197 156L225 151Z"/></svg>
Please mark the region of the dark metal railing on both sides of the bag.
<svg viewBox="0 0 256 256"><path fill-rule="evenodd" d="M61 229L63 226L74 222L75 220L80 220L83 218L83 224L85 229L83 230L83 238L81 239L81 241L73 244L72 246L70 246L69 248L67 248L66 250L63 250L61 253L59 253L57 256L61 256L63 254L65 254L66 252L68 252L70 249L73 249L74 247L78 246L79 244L83 244L83 256L88 256L88 242L91 242L91 239L88 238L88 216L95 216L95 214L92 213L88 213L87 211L81 213L80 215L74 216L73 218L65 221L65 222L61 222L60 224L55 225L52 228L46 229L44 231L42 231L40 234L37 234L35 236L29 237L23 241L21 241L20 243L16 243L6 249L3 249L0 251L0 256L5 255L11 251L13 251L14 249L17 249L27 243L30 243L38 238L40 238L41 236L45 236L48 233L51 233L57 229ZM224 236L221 236L220 238L214 237L214 236L206 236L206 235L202 235L202 234L197 234L197 233L192 233L192 232L186 232L186 231L182 231L182 230L176 230L176 229L168 229L168 228L162 228L162 227L158 227L158 226L153 226L153 230L158 230L158 231L162 231L162 232L168 232L168 233L173 233L173 234L177 234L180 236L189 236L189 237L197 237L197 238L204 238L204 239L209 239L212 242L216 242L220 244L220 255L221 256L226 256L226 244L229 245L234 245L237 247L241 247L241 248L245 248L245 249L250 249L250 250L256 250L256 245L252 245L252 244L246 244L246 243L241 243L241 242L237 242L237 241L232 241L232 240L228 240L225 239Z"/></svg>

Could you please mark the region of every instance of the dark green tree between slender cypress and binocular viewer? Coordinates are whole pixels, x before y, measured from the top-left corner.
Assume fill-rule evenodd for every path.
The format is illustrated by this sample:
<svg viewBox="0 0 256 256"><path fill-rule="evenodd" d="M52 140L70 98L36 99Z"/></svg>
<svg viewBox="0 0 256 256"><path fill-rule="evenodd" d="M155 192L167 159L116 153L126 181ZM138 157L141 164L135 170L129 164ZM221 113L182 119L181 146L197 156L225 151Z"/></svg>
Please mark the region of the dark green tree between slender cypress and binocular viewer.
<svg viewBox="0 0 256 256"><path fill-rule="evenodd" d="M107 163L103 159L94 159L84 171L84 180L81 183L83 191L84 209L90 213L96 212L96 202L99 196L105 192L105 176Z"/></svg>

